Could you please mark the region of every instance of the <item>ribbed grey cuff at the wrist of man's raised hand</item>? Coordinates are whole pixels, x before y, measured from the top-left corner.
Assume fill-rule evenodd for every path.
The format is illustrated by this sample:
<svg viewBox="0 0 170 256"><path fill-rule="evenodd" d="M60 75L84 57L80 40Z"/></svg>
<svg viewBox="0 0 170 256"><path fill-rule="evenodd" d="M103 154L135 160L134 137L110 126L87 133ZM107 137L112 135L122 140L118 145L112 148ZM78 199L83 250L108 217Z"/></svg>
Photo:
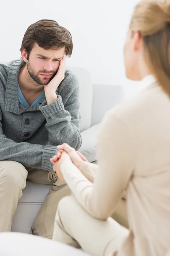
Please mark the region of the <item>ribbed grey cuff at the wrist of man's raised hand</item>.
<svg viewBox="0 0 170 256"><path fill-rule="evenodd" d="M62 97L60 95L57 95L57 99L54 100L54 102L51 102L50 104L46 105L46 102L43 102L40 107L40 111L43 113L45 118L48 118L50 116L53 116L57 112L64 109L64 105L62 103Z"/></svg>

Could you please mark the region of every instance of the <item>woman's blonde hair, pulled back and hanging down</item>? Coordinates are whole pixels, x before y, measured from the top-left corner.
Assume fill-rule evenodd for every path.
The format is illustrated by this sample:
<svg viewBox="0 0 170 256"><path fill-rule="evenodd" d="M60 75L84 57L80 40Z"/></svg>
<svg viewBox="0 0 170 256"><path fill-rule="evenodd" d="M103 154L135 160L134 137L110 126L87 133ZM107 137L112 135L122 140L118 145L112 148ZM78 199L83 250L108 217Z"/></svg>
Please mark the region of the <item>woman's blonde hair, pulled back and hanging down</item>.
<svg viewBox="0 0 170 256"><path fill-rule="evenodd" d="M134 10L130 30L143 37L147 67L170 96L170 1L141 1Z"/></svg>

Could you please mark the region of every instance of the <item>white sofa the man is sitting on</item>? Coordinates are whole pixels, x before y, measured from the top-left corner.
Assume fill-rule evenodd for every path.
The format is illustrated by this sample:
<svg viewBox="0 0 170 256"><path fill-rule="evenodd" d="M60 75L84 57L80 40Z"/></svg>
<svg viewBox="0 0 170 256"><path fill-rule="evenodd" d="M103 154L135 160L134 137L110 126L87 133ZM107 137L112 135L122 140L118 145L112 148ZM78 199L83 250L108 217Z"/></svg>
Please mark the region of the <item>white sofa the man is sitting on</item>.
<svg viewBox="0 0 170 256"><path fill-rule="evenodd" d="M92 84L90 73L82 68L68 67L79 79L80 113L82 122L82 146L79 151L90 162L96 162L96 139L99 123L105 112L123 99L123 90L119 85ZM49 185L27 181L23 196L20 198L14 215L11 231L29 233L31 225L48 194Z"/></svg>

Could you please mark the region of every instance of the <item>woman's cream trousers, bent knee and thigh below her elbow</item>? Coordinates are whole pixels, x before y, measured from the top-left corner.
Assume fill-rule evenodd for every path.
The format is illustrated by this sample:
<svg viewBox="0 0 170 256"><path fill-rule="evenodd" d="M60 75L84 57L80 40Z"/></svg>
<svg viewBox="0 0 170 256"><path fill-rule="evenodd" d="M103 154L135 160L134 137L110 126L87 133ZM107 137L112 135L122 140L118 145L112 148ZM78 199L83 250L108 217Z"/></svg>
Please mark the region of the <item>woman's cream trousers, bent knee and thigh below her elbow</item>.
<svg viewBox="0 0 170 256"><path fill-rule="evenodd" d="M88 214L74 196L59 202L53 240L82 249L94 256L108 256L120 250L129 230L109 217L100 221Z"/></svg>

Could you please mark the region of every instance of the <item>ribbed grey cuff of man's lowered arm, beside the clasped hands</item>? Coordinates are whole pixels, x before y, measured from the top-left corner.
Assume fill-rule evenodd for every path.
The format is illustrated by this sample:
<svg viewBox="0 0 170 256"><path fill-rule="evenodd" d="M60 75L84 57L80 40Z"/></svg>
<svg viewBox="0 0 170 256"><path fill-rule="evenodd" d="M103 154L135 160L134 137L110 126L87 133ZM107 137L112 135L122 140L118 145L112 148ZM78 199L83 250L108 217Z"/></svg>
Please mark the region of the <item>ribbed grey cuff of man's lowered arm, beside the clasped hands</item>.
<svg viewBox="0 0 170 256"><path fill-rule="evenodd" d="M47 145L42 153L42 169L53 171L53 164L50 162L50 158L57 153L57 146Z"/></svg>

